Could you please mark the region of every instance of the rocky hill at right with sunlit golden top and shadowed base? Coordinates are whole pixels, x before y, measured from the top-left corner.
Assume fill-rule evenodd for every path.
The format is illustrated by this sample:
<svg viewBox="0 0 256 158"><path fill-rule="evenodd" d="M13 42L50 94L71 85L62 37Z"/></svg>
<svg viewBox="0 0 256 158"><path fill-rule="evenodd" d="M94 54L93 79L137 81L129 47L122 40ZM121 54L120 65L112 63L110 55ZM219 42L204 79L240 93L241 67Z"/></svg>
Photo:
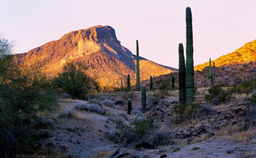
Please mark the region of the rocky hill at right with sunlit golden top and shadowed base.
<svg viewBox="0 0 256 158"><path fill-rule="evenodd" d="M196 52L194 52L196 53ZM210 56L209 56L210 57ZM245 80L256 77L256 40L246 43L235 52L223 55L215 60L215 84L240 84ZM208 87L206 79L206 67L209 67L209 61L194 66L195 85L198 87ZM212 69L213 70L213 69ZM178 73L175 73L175 84L178 86ZM170 80L170 74L163 74L156 77L157 82ZM149 79L142 81L142 84L149 86Z"/></svg>

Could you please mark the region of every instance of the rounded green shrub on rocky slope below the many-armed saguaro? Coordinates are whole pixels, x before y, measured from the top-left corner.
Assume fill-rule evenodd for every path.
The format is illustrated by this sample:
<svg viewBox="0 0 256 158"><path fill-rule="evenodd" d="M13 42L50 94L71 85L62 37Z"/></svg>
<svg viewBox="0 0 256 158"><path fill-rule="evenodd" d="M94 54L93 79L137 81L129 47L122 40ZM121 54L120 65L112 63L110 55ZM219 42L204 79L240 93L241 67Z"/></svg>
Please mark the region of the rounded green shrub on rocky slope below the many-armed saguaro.
<svg viewBox="0 0 256 158"><path fill-rule="evenodd" d="M214 85L208 89L209 94L204 95L204 100L206 102L218 105L220 103L225 103L232 98L235 98L233 91L230 89L224 90L219 85Z"/></svg>

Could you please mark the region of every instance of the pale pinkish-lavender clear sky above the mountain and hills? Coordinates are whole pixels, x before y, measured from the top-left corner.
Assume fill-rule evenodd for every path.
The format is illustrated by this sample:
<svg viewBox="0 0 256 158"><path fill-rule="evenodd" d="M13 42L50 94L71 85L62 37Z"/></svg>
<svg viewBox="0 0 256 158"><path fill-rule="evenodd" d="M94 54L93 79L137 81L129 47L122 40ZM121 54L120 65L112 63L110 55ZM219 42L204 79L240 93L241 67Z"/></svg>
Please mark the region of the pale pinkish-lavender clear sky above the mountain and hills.
<svg viewBox="0 0 256 158"><path fill-rule="evenodd" d="M153 62L178 68L186 58L186 7L192 10L194 66L256 39L254 0L0 0L0 32L24 53L95 25L114 28L121 45Z"/></svg>

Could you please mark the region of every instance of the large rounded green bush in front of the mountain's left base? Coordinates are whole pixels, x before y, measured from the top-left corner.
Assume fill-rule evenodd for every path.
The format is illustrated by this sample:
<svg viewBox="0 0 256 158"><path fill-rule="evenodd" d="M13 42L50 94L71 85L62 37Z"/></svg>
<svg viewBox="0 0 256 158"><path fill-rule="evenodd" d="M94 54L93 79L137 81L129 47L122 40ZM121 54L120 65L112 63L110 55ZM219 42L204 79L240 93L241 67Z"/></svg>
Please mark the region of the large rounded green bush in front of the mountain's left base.
<svg viewBox="0 0 256 158"><path fill-rule="evenodd" d="M94 78L88 76L84 63L68 60L63 67L63 72L58 73L52 81L56 90L68 93L73 99L85 99L87 94L97 92L99 84Z"/></svg>

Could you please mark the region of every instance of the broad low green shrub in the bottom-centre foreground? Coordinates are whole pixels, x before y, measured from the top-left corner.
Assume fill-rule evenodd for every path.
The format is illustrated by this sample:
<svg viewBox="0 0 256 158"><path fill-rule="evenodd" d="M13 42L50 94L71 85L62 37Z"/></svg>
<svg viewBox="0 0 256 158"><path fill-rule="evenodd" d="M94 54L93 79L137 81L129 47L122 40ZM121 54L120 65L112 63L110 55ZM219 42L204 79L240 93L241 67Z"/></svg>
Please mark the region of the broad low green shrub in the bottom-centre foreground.
<svg viewBox="0 0 256 158"><path fill-rule="evenodd" d="M157 131L157 125L145 117L137 117L131 121L131 125L124 125L118 133L119 141L126 143L135 143L142 140L152 140L153 134Z"/></svg>

